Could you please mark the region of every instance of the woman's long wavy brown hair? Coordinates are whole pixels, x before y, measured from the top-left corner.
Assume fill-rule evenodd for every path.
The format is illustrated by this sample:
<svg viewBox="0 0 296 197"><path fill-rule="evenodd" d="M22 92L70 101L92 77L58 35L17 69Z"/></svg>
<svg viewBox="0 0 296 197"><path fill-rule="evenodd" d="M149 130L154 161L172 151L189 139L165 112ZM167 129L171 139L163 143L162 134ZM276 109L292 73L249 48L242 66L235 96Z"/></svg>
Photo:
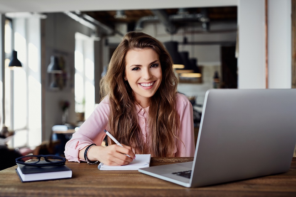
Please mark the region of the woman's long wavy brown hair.
<svg viewBox="0 0 296 197"><path fill-rule="evenodd" d="M138 125L133 91L125 76L125 56L134 49L154 50L162 69L162 82L148 103L148 136L144 143ZM101 98L109 95L110 133L121 143L129 145L137 154L154 157L173 156L176 140L179 139L179 115L176 111L178 78L173 71L173 61L160 41L142 32L127 33L114 51L106 75L101 79ZM109 144L113 144L109 140Z"/></svg>

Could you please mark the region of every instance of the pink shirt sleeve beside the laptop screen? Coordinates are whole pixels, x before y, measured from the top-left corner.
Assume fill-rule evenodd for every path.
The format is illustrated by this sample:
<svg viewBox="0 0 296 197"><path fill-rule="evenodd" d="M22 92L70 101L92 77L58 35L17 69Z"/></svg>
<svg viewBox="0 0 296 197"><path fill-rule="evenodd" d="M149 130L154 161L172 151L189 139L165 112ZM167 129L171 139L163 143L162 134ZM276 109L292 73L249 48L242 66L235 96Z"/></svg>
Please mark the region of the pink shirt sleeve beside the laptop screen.
<svg viewBox="0 0 296 197"><path fill-rule="evenodd" d="M189 99L183 94L177 94L177 111L180 116L180 132L177 140L176 157L194 157L194 127L193 108Z"/></svg>

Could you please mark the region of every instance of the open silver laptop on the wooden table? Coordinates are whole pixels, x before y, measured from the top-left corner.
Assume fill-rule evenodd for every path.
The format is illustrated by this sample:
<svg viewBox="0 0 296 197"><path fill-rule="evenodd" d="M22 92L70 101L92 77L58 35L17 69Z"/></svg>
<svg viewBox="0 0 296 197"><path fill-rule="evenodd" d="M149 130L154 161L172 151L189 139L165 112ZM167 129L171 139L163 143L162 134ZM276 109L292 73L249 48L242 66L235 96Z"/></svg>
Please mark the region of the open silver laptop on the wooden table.
<svg viewBox="0 0 296 197"><path fill-rule="evenodd" d="M296 89L213 89L193 162L139 169L184 187L283 173L296 143Z"/></svg>

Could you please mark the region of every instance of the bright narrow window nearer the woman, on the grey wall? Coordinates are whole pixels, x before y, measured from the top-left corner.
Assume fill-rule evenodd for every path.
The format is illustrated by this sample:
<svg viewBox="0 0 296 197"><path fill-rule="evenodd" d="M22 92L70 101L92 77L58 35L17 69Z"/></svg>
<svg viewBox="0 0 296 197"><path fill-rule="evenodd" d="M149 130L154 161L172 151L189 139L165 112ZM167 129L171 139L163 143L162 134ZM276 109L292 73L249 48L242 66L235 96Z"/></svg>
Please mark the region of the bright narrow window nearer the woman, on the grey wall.
<svg viewBox="0 0 296 197"><path fill-rule="evenodd" d="M87 119L95 108L94 43L80 33L75 34L75 111Z"/></svg>

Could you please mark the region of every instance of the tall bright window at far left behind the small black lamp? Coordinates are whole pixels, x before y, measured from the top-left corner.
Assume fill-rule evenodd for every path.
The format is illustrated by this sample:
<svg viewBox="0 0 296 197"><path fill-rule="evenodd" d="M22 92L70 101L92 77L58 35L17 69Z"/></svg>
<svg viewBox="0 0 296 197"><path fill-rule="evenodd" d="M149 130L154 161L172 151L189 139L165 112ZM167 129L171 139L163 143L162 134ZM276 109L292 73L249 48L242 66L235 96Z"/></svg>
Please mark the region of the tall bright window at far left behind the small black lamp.
<svg viewBox="0 0 296 197"><path fill-rule="evenodd" d="M15 131L9 146L41 144L40 19L14 18L5 22L5 126ZM8 67L12 50L21 68Z"/></svg>

